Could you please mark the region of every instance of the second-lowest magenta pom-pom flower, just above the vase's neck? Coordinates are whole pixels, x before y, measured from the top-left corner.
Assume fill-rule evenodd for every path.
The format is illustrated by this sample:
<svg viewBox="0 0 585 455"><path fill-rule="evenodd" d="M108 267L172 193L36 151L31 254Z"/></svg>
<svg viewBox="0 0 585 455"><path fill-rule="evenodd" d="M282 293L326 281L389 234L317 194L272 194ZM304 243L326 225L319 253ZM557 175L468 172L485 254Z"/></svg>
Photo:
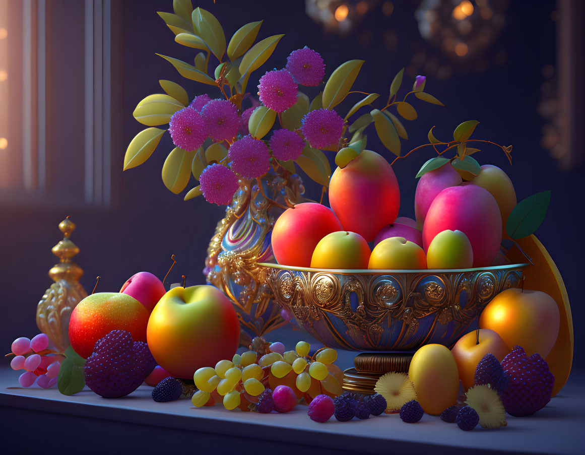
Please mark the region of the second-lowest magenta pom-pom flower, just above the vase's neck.
<svg viewBox="0 0 585 455"><path fill-rule="evenodd" d="M263 141L244 136L229 147L232 169L245 178L256 178L270 169L270 151Z"/></svg>

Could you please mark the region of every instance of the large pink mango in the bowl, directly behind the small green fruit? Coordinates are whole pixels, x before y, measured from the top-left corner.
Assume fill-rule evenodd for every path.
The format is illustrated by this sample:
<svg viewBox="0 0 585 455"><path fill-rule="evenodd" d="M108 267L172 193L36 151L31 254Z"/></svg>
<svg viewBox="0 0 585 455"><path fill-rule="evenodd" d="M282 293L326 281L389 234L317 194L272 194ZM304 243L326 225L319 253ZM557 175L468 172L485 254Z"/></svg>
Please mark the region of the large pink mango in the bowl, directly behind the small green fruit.
<svg viewBox="0 0 585 455"><path fill-rule="evenodd" d="M473 267L490 266L502 241L502 217L494 197L477 185L460 185L441 191L426 213L422 229L425 253L443 230L462 231L473 249Z"/></svg>

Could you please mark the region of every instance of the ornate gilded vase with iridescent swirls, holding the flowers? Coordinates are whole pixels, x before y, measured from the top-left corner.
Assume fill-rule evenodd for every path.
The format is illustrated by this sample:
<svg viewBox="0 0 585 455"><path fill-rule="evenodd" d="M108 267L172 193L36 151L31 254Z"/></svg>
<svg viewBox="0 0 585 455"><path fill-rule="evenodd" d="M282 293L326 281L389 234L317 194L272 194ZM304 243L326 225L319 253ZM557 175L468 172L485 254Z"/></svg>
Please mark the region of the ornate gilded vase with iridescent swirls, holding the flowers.
<svg viewBox="0 0 585 455"><path fill-rule="evenodd" d="M302 196L301 178L281 168L262 177L261 184L263 191L255 180L240 180L239 191L215 228L205 260L207 282L221 289L238 312L243 346L286 323L263 284L261 274L266 268L258 265L274 261L270 237L284 208L273 202L292 206L308 201Z"/></svg>

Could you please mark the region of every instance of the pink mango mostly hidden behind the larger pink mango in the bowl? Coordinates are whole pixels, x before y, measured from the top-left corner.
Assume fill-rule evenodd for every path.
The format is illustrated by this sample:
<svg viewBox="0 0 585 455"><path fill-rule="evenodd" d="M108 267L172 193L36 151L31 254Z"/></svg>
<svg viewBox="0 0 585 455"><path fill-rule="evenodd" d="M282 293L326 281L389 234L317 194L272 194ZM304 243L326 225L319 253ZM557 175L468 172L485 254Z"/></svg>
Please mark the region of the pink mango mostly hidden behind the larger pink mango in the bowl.
<svg viewBox="0 0 585 455"><path fill-rule="evenodd" d="M449 163L423 174L417 184L417 192L414 195L414 213L417 218L417 228L422 229L426 213L443 189L456 187L463 182L461 176Z"/></svg>

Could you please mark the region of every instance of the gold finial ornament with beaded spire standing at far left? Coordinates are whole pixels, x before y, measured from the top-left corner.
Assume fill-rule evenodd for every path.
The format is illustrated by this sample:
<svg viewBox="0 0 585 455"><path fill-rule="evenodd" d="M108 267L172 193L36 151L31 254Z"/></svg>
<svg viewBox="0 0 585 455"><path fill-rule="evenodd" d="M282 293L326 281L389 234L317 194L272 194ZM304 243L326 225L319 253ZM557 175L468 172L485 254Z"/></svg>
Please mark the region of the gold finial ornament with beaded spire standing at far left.
<svg viewBox="0 0 585 455"><path fill-rule="evenodd" d="M59 223L59 230L64 237L51 249L59 257L59 263L49 270L49 277L54 283L45 291L36 313L37 326L60 352L64 352L69 346L71 312L87 297L87 292L79 283L83 270L71 260L79 253L77 245L69 239L74 229L75 223L68 216Z"/></svg>

